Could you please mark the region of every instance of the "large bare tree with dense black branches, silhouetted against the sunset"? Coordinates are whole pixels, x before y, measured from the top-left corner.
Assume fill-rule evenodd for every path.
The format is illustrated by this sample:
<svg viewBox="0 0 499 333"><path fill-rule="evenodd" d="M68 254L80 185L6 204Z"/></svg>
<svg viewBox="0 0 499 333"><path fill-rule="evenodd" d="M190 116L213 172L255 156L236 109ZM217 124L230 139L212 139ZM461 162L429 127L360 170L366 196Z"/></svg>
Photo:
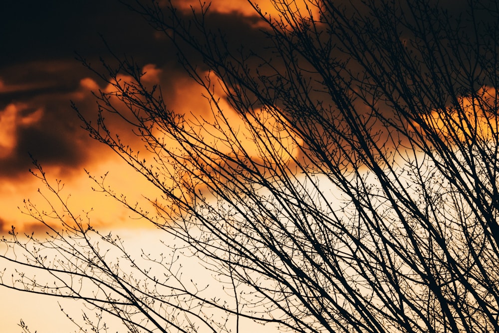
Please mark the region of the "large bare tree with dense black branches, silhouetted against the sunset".
<svg viewBox="0 0 499 333"><path fill-rule="evenodd" d="M12 231L3 243L25 257L2 258L51 284L22 270L1 284L84 300L131 332L239 332L242 318L293 332L499 331L498 3L469 1L453 16L401 2L274 0L278 17L254 5L266 53L211 29L207 4L187 15L127 3L177 46L212 114L170 110L140 66L116 57L96 71L114 90L96 94L96 122L82 120L162 196L145 212L95 181L180 245L143 253L150 270L64 200L69 220L27 202L63 231L27 243ZM183 276L180 253L216 273L229 301Z"/></svg>

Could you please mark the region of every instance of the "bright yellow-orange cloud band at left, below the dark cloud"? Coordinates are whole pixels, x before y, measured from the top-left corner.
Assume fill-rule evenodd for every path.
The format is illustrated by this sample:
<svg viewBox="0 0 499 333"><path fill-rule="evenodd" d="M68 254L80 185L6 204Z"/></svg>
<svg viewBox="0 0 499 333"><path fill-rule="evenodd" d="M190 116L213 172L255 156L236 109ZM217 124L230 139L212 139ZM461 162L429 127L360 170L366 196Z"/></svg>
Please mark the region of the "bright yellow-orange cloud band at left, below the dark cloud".
<svg viewBox="0 0 499 333"><path fill-rule="evenodd" d="M110 187L118 195L120 193L126 194L127 200L131 204L138 202L144 209L153 210L152 205L142 195L154 199L160 193L152 184L145 181L140 174L124 165L121 159L115 158L91 166L88 169L91 175L98 180L106 172L109 172L104 183L106 187ZM44 171L47 174L49 184L54 186L61 170L58 170L58 167L48 167L44 168ZM88 221L99 230L152 227L145 221L138 220L136 215L115 199L104 195L104 193L93 191L92 187L96 188L96 184L83 172L67 181L65 180L63 184L64 187L60 192L61 199L67 203L71 213L75 217L81 218L83 223ZM38 189L40 193L37 193ZM23 205L24 199L29 199L39 211L43 210L45 212L52 210L46 201L50 200L50 204L53 205L57 213L62 214L64 212L61 202L58 201L55 195L50 193L41 184L41 181L27 173L24 180L2 181L0 193L0 207L2 209L0 227L2 227L3 232L9 230L11 225L15 226L18 232L30 233L44 230L44 227L39 222L24 214L27 211L27 208ZM89 213L89 220L87 220L87 213ZM1 225L2 221L3 225ZM46 221L56 229L61 225L61 221L57 219L46 219ZM73 224L70 219L64 221Z"/></svg>

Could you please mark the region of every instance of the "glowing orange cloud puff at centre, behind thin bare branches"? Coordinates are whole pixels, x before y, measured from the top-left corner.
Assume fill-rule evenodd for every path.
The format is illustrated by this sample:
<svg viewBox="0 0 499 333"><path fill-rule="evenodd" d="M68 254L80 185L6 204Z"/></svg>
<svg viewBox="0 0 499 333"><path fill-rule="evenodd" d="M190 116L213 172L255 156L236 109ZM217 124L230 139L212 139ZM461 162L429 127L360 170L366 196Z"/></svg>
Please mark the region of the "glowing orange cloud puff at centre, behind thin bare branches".
<svg viewBox="0 0 499 333"><path fill-rule="evenodd" d="M205 141L212 141L214 148L226 154L230 154L234 147L218 140L223 136L228 136L230 141L240 142L251 158L264 159L266 149L274 150L273 155L278 156L282 163L287 163L291 157L297 157L298 146L302 141L294 133L288 133L290 127L286 126L287 123L283 119L277 118L275 111L255 109L251 115L248 113L248 119L244 120L227 101L224 89L215 83L220 82L220 79L208 72L205 76L211 76L213 100L217 101L217 105L210 105L209 100L204 97L206 90L194 81L185 79L176 84L177 99L174 101L174 110L186 115L186 120L192 124L191 130L198 132ZM190 98L185 99L184 96ZM201 117L208 126L195 125L201 122ZM213 124L217 124L216 129L211 126Z"/></svg>

